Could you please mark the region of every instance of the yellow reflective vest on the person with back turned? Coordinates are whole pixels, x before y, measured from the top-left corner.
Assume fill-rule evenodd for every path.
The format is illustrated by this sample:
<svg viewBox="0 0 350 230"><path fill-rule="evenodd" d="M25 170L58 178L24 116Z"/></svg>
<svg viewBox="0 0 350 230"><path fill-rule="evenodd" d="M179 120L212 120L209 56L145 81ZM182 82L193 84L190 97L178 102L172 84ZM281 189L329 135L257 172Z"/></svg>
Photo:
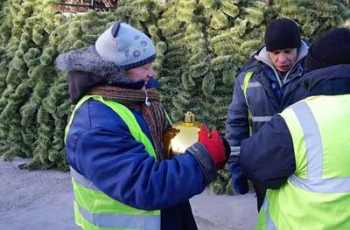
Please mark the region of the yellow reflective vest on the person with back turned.
<svg viewBox="0 0 350 230"><path fill-rule="evenodd" d="M268 189L258 229L350 229L349 104L349 95L309 97L282 112L296 171Z"/></svg>

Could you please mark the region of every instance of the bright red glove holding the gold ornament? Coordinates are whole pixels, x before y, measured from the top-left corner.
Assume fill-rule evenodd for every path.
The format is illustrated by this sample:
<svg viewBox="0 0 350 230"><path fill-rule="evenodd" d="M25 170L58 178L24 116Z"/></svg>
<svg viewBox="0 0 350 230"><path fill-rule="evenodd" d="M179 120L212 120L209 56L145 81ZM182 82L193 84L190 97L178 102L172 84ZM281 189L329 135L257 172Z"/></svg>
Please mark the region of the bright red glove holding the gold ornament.
<svg viewBox="0 0 350 230"><path fill-rule="evenodd" d="M208 150L216 168L219 169L226 160L225 147L219 132L214 129L209 133L207 127L202 125L198 136L198 141Z"/></svg>

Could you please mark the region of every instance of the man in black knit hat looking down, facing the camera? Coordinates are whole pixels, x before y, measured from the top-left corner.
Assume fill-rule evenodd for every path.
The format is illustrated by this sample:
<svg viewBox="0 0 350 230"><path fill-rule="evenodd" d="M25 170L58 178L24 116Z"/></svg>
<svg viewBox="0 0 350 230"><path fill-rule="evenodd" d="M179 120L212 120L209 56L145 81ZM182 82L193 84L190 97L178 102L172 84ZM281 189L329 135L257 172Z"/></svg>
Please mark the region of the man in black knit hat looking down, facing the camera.
<svg viewBox="0 0 350 230"><path fill-rule="evenodd" d="M294 98L289 95L298 87L308 51L297 24L284 18L276 19L267 26L265 45L236 78L228 108L226 139L231 146L229 168L233 186L240 194L248 192L247 179L237 162L241 141L256 133L280 111L282 104L294 103L285 99ZM266 188L254 184L254 189L260 209Z"/></svg>

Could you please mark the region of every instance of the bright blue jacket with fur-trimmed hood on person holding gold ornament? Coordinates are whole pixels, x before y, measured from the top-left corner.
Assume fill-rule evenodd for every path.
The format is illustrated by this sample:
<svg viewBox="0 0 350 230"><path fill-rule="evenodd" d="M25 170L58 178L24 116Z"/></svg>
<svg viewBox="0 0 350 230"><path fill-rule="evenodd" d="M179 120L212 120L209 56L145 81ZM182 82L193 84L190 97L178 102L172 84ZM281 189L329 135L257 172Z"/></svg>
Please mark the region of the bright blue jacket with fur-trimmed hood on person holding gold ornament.
<svg viewBox="0 0 350 230"><path fill-rule="evenodd" d="M59 56L56 61L60 69L70 71L73 102L98 84L141 89L143 83L129 82L118 68L104 68L110 63L95 54L91 47ZM101 72L108 74L100 76ZM131 112L152 140L142 112ZM75 114L66 153L69 164L111 198L138 209L160 209L162 230L197 229L188 199L201 193L216 175L214 162L200 143L172 160L155 161L118 114L91 99Z"/></svg>

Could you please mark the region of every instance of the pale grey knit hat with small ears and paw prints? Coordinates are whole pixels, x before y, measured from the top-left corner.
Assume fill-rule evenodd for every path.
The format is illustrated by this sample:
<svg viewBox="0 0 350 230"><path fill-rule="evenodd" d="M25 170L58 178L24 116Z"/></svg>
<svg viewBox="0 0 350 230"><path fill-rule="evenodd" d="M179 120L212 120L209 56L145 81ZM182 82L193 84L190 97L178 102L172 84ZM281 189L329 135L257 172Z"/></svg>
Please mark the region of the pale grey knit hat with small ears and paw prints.
<svg viewBox="0 0 350 230"><path fill-rule="evenodd" d="M124 70L154 61L156 49L152 40L141 31L117 21L103 32L95 43L97 53Z"/></svg>

